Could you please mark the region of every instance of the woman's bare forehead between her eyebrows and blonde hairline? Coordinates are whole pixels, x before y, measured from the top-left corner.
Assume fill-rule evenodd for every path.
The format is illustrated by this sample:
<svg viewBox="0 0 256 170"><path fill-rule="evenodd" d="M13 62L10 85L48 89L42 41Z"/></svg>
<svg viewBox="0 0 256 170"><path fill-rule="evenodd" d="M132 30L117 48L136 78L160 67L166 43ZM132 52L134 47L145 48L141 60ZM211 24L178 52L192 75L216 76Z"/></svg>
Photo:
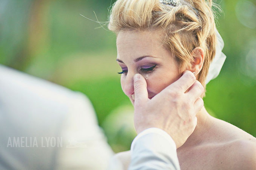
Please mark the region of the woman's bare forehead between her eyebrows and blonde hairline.
<svg viewBox="0 0 256 170"><path fill-rule="evenodd" d="M117 58L159 55L164 49L156 31L121 31L117 35Z"/></svg>

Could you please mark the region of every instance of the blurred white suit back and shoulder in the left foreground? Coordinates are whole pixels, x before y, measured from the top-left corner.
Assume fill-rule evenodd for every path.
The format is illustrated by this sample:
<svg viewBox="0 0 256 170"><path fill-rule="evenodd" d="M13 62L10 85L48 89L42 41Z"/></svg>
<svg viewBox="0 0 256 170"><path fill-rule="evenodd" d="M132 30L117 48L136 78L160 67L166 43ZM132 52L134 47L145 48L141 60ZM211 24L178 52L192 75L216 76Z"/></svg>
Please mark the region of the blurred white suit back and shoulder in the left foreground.
<svg viewBox="0 0 256 170"><path fill-rule="evenodd" d="M0 134L0 170L103 170L114 155L84 94L1 64Z"/></svg>

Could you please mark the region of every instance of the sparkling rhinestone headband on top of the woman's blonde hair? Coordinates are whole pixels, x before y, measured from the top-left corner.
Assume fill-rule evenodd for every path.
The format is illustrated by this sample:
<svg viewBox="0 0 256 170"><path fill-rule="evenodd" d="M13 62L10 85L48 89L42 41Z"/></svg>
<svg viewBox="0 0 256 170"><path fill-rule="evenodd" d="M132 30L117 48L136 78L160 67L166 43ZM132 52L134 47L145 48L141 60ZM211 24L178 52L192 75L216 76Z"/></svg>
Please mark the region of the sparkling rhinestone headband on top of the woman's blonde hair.
<svg viewBox="0 0 256 170"><path fill-rule="evenodd" d="M196 8L194 8L190 3L186 2L185 0L159 0L159 2L164 5L169 5L173 7L187 6L189 11L193 12L196 15L196 17L199 18L199 12L196 10Z"/></svg>

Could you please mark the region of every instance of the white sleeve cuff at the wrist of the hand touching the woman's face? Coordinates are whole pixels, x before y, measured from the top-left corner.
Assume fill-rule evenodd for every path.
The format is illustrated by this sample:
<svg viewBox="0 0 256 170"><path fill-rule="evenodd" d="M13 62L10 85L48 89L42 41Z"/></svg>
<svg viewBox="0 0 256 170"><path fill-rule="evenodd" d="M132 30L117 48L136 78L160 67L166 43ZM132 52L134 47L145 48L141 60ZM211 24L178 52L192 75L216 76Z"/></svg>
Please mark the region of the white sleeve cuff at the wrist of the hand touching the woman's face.
<svg viewBox="0 0 256 170"><path fill-rule="evenodd" d="M180 170L176 144L167 132L149 128L134 138L128 170Z"/></svg>

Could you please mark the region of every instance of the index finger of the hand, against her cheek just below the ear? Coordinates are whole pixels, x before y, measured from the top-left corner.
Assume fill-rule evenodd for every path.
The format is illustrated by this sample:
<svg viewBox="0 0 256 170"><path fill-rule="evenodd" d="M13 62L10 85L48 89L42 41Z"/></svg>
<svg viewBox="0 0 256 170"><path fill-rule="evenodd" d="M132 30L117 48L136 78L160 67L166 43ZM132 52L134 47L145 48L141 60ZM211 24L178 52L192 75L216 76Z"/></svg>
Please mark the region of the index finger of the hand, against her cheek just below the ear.
<svg viewBox="0 0 256 170"><path fill-rule="evenodd" d="M170 88L180 90L185 93L196 81L196 77L191 71L184 71L183 75L174 83L170 85ZM168 87L167 87L168 88Z"/></svg>

